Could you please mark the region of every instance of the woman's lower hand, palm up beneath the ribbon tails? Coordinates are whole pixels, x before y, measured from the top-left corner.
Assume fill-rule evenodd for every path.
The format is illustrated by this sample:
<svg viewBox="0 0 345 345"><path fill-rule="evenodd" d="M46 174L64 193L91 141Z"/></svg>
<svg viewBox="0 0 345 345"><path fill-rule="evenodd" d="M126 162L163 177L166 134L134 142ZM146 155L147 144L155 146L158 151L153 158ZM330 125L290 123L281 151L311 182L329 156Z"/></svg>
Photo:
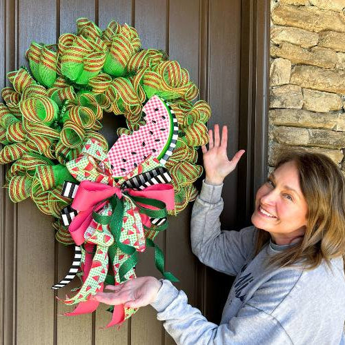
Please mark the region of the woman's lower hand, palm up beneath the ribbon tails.
<svg viewBox="0 0 345 345"><path fill-rule="evenodd" d="M129 279L120 285L108 285L110 293L97 293L92 300L116 306L124 304L126 307L139 308L155 302L161 282L155 277L139 277Z"/></svg>

